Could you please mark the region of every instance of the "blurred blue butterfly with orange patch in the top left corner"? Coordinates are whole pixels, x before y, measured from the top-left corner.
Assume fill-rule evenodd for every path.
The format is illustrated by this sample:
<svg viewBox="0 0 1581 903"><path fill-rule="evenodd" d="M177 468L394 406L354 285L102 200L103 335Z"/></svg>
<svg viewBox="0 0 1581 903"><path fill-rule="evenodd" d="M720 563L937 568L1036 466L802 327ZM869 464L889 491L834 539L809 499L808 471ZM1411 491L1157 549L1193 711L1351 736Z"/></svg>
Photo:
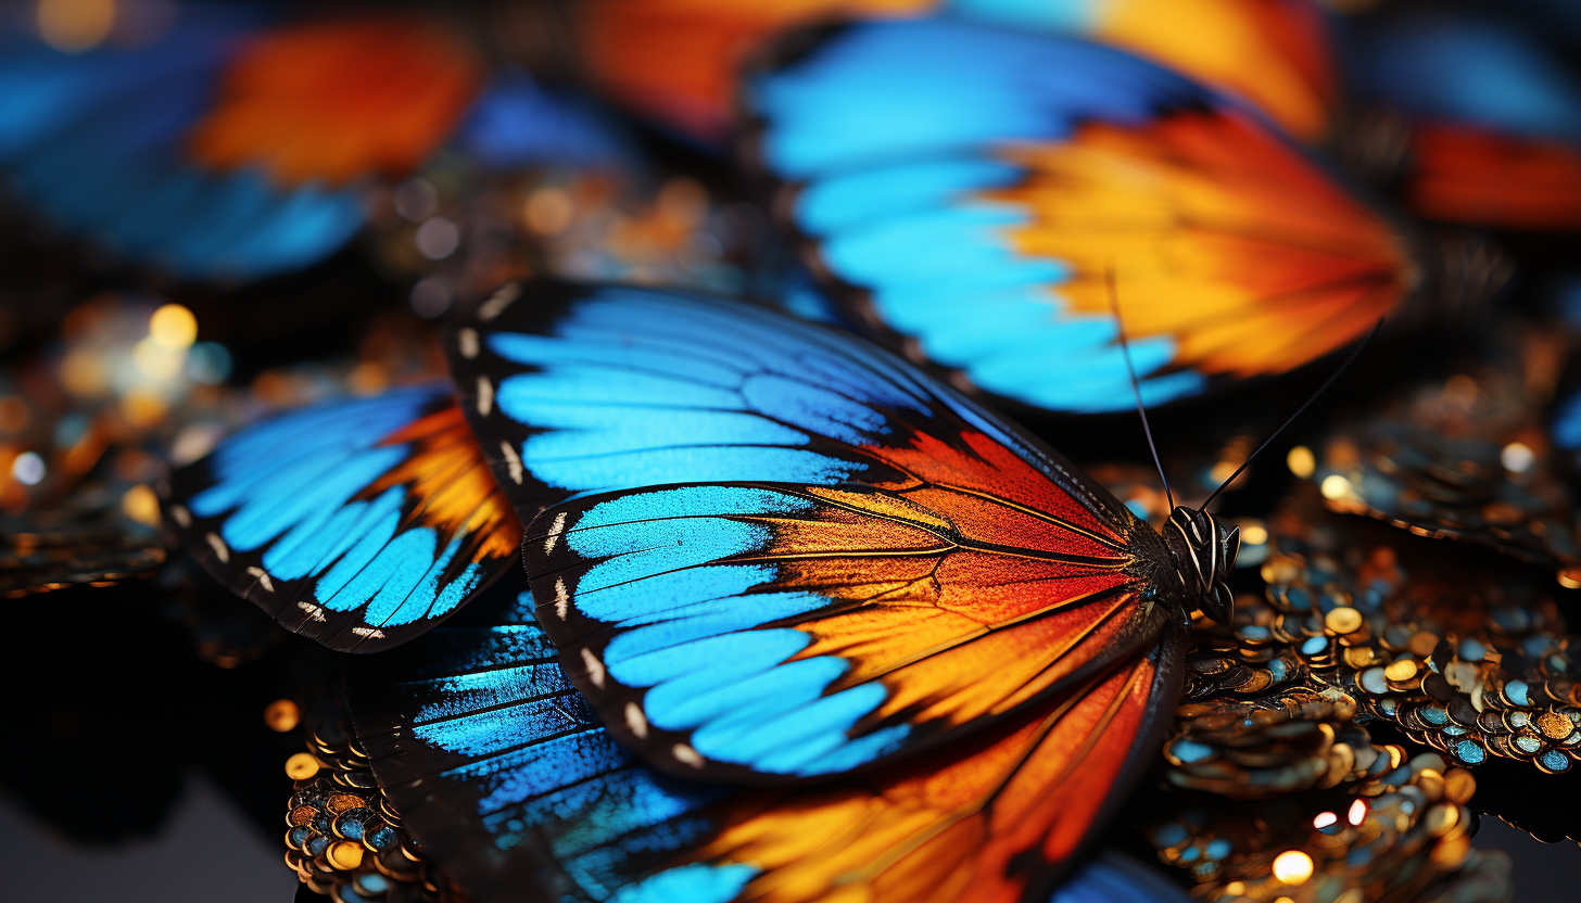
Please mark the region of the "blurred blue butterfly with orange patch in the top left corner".
<svg viewBox="0 0 1581 903"><path fill-rule="evenodd" d="M180 278L310 266L357 234L370 183L443 147L481 164L609 150L460 21L114 9L0 24L0 176L62 232Z"/></svg>

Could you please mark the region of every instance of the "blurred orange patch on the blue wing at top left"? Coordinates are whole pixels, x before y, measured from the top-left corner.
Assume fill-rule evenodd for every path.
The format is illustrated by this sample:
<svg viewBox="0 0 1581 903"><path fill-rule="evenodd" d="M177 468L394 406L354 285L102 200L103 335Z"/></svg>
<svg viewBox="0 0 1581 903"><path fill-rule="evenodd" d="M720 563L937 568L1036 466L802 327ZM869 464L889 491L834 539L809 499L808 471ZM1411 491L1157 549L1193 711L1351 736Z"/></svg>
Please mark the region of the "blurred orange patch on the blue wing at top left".
<svg viewBox="0 0 1581 903"><path fill-rule="evenodd" d="M261 166L281 185L398 176L449 138L481 84L471 47L432 21L292 25L231 63L188 152L217 169Z"/></svg>

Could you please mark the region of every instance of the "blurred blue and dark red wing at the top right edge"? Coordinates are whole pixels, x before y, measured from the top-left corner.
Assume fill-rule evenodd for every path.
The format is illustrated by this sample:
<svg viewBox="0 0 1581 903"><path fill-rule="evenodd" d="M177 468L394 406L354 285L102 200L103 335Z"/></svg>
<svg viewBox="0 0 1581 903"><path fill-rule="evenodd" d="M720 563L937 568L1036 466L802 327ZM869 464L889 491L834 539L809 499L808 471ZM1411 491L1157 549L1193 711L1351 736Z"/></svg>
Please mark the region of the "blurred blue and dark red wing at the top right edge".
<svg viewBox="0 0 1581 903"><path fill-rule="evenodd" d="M1581 79L1492 11L1406 11L1358 27L1358 82L1409 131L1404 202L1423 217L1581 228Z"/></svg>

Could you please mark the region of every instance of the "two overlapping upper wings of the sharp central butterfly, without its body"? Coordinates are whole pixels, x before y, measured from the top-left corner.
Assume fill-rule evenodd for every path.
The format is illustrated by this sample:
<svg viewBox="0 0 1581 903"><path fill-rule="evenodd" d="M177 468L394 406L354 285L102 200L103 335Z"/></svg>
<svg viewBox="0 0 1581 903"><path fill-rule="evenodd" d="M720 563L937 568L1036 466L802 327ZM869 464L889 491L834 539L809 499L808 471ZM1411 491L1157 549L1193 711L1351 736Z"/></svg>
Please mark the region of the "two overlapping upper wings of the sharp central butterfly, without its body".
<svg viewBox="0 0 1581 903"><path fill-rule="evenodd" d="M550 636L661 767L847 770L1002 716L1157 631L1157 535L873 345L741 302L534 281L446 346L496 479L536 517L523 555ZM643 664L658 659L662 675ZM666 708L727 680L735 697ZM741 712L756 721L730 727ZM813 712L814 737L764 750ZM732 731L740 745L719 740Z"/></svg>

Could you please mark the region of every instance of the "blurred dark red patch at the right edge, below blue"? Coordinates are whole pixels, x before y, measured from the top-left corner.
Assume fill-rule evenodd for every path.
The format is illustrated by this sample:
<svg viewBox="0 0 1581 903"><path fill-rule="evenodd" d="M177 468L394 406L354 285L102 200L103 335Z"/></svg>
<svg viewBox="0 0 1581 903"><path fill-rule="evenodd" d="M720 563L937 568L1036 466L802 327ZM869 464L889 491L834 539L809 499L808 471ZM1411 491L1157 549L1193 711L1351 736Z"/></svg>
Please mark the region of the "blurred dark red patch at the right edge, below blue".
<svg viewBox="0 0 1581 903"><path fill-rule="evenodd" d="M1469 127L1412 133L1407 204L1432 220L1505 229L1581 228L1581 152Z"/></svg>

